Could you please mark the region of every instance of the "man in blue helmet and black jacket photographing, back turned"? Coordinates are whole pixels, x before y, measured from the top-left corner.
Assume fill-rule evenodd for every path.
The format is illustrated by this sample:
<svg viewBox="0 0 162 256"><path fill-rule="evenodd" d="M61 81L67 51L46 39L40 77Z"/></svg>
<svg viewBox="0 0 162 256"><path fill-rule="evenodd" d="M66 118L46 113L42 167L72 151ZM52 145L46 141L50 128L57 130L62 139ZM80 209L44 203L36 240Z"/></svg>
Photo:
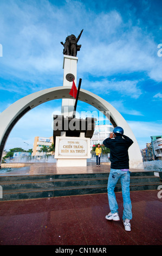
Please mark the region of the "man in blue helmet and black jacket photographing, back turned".
<svg viewBox="0 0 162 256"><path fill-rule="evenodd" d="M118 204L115 197L115 186L118 180L121 181L122 198L124 203L124 211L122 220L126 231L131 231L132 220L132 204L130 198L130 172L129 172L129 156L128 148L133 144L132 139L124 135L124 130L120 126L116 126L109 138L103 141L103 145L110 149L111 171L108 177L108 202L111 212L106 215L106 220L119 221Z"/></svg>

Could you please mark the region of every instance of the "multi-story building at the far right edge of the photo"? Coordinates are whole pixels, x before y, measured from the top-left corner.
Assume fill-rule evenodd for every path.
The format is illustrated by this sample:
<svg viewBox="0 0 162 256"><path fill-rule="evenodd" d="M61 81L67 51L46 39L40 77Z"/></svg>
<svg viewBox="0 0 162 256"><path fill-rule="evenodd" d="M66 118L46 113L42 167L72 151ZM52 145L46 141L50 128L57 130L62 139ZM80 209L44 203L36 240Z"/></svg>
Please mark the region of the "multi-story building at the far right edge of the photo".
<svg viewBox="0 0 162 256"><path fill-rule="evenodd" d="M162 135L151 136L151 144L155 160L162 160Z"/></svg>

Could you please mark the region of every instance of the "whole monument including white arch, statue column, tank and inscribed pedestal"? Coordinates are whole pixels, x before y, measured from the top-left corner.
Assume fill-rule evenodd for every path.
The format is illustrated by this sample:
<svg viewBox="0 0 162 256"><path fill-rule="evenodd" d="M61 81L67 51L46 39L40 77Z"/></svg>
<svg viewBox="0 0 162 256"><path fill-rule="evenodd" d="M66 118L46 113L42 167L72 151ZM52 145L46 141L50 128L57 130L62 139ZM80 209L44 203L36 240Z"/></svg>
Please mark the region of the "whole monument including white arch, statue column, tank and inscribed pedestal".
<svg viewBox="0 0 162 256"><path fill-rule="evenodd" d="M62 99L61 115L54 115L53 136L55 144L55 159L57 167L87 166L87 159L90 158L90 138L95 129L94 118L77 119L75 111L77 100L86 102L101 111L110 120L112 125L122 126L124 133L133 140L129 148L129 166L138 168L142 164L140 148L131 128L122 115L106 100L98 95L81 89L81 78L77 85L77 51L81 45L77 42L79 36L69 35L63 45L63 86L48 88L29 94L14 102L2 113L0 113L0 163L5 143L11 130L18 120L36 106L55 99ZM0 164L1 168L1 164ZM141 166L140 166L141 168Z"/></svg>

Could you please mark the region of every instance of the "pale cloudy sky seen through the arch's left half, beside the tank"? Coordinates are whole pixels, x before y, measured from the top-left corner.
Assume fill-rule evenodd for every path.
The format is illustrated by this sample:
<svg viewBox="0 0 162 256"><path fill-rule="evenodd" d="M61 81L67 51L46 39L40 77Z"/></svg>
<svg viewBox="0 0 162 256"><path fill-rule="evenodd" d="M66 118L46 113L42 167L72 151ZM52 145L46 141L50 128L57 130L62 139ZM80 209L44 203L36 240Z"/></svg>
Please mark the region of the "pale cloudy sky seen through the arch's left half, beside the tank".
<svg viewBox="0 0 162 256"><path fill-rule="evenodd" d="M61 106L54 106L42 104L25 114L12 129L5 149L9 150L16 147L26 149L27 145L24 142L29 144L28 148L33 148L36 136L53 136L53 114L61 113Z"/></svg>

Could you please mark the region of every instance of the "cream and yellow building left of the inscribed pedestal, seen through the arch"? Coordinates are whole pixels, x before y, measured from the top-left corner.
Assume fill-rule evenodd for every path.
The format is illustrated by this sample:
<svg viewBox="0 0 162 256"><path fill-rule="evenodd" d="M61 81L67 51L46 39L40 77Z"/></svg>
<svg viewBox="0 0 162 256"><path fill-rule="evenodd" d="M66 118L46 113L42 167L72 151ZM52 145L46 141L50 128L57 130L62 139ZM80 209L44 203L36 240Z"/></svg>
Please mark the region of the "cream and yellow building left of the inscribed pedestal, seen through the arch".
<svg viewBox="0 0 162 256"><path fill-rule="evenodd" d="M49 148L53 142L53 136L50 138L46 137L35 137L34 145L33 145L33 153L32 156L36 156L37 158L41 158L43 156L43 152L41 152L42 146L46 146ZM48 153L51 154L51 153Z"/></svg>

